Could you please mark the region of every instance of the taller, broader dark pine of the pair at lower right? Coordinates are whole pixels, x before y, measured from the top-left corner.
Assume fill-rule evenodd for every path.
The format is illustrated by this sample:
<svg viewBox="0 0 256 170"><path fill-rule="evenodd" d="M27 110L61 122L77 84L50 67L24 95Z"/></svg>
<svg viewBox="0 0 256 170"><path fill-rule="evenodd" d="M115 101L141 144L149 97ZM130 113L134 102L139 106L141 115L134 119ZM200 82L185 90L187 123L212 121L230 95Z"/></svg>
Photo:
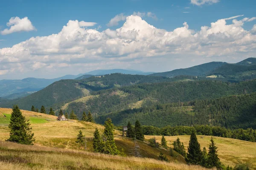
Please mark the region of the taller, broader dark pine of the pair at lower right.
<svg viewBox="0 0 256 170"><path fill-rule="evenodd" d="M198 143L195 130L193 130L189 140L186 161L189 164L201 164L202 158L203 154L200 148L200 144Z"/></svg>

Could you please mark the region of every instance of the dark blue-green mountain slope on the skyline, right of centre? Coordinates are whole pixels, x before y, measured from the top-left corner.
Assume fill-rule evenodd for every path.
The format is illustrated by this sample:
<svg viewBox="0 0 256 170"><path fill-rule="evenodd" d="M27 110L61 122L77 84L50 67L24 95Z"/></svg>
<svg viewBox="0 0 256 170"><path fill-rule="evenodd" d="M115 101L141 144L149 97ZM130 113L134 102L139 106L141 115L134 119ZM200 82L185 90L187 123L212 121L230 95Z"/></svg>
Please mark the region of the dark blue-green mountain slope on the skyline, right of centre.
<svg viewBox="0 0 256 170"><path fill-rule="evenodd" d="M205 73L214 70L215 68L225 65L227 62L209 62L201 65L196 65L190 68L181 68L173 71L167 71L163 73L154 73L150 74L151 76L164 76L164 77L175 77L178 75L190 75L190 76L199 76L204 75Z"/></svg>

